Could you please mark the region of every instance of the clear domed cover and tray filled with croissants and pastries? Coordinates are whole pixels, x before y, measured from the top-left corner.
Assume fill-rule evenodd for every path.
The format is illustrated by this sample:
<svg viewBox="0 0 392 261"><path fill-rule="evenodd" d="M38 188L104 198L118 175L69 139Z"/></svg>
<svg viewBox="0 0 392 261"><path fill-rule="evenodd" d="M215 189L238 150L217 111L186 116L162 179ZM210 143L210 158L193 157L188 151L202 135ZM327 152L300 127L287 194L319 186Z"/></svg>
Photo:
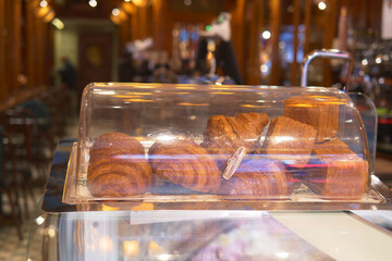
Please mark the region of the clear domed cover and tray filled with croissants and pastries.
<svg viewBox="0 0 392 261"><path fill-rule="evenodd" d="M98 83L82 100L65 203L383 200L334 88Z"/></svg>

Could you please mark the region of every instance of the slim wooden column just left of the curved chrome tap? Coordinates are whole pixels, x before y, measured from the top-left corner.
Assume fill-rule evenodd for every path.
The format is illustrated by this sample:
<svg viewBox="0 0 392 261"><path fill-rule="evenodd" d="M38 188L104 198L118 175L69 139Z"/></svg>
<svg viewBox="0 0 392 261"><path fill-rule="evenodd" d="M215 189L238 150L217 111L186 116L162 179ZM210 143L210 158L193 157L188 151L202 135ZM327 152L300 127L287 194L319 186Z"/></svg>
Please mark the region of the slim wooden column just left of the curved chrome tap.
<svg viewBox="0 0 392 261"><path fill-rule="evenodd" d="M271 77L270 85L280 85L281 77L281 64L279 57L279 29L281 25L281 1L280 0L270 0L270 10L271 10Z"/></svg>

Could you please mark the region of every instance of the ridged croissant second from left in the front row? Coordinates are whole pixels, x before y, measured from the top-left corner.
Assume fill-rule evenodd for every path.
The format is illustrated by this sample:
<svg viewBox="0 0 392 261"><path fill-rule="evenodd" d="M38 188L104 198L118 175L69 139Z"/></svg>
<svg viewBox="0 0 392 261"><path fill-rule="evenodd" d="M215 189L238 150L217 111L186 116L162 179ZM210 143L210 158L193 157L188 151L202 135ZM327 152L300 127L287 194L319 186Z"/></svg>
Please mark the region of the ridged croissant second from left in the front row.
<svg viewBox="0 0 392 261"><path fill-rule="evenodd" d="M157 141L148 154L152 171L160 178L199 192L219 190L221 174L217 163L194 141Z"/></svg>

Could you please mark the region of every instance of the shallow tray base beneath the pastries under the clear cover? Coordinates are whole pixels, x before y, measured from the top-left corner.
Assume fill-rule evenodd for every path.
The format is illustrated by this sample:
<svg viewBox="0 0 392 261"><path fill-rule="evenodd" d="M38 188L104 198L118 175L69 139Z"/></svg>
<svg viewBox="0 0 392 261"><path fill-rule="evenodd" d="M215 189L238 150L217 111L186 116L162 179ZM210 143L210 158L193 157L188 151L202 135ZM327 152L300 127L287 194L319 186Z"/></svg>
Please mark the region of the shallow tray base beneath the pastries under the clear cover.
<svg viewBox="0 0 392 261"><path fill-rule="evenodd" d="M150 142L144 144L145 148ZM360 199L320 199L305 184L298 183L289 197L248 199L236 196L188 194L162 195L147 192L128 198L96 198L87 188L86 175L75 181L77 142L74 142L66 170L62 201L76 204L78 210L151 210L151 209L255 209L255 210L355 210L392 209L392 194L376 176ZM77 184L72 186L72 184ZM154 190L152 190L154 191Z"/></svg>

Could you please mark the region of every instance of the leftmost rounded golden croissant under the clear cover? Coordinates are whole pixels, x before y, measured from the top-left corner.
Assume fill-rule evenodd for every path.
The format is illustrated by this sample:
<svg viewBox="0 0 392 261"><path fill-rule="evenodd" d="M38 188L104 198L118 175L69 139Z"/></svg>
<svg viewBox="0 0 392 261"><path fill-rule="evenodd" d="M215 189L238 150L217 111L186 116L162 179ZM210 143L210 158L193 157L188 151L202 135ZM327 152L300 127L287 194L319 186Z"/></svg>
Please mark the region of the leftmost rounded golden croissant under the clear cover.
<svg viewBox="0 0 392 261"><path fill-rule="evenodd" d="M152 171L142 144L121 133L101 135L90 150L87 184L95 197L146 192L152 185Z"/></svg>

